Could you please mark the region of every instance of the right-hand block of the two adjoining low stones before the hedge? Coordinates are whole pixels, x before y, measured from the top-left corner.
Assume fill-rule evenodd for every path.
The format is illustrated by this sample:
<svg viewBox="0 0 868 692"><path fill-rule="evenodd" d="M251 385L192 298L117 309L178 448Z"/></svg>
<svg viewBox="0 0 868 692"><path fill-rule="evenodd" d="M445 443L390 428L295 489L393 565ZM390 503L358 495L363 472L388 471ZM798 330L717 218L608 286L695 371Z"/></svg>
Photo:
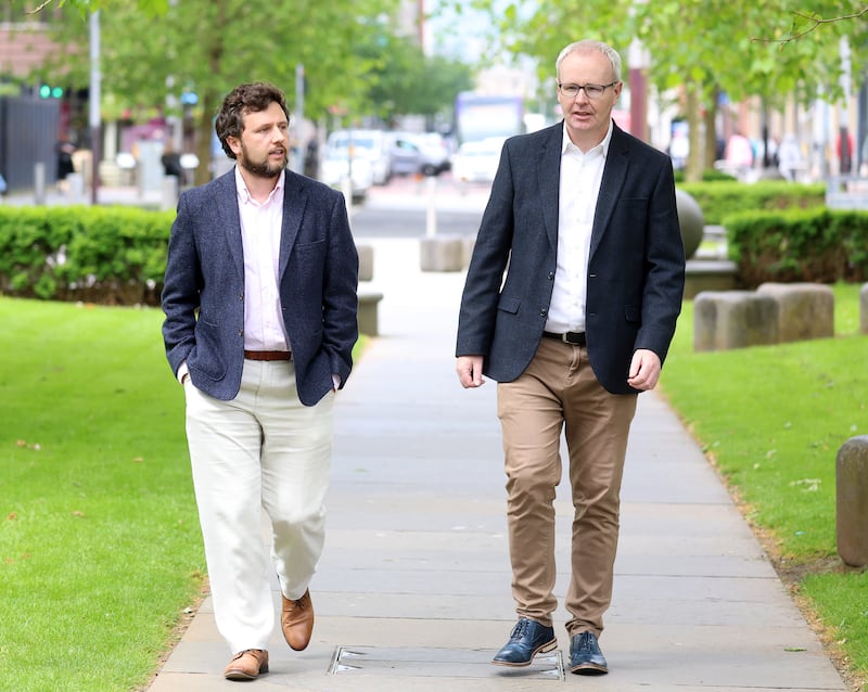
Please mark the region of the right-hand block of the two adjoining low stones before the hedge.
<svg viewBox="0 0 868 692"><path fill-rule="evenodd" d="M781 344L834 336L834 292L821 283L763 283L757 293L778 302Z"/></svg>

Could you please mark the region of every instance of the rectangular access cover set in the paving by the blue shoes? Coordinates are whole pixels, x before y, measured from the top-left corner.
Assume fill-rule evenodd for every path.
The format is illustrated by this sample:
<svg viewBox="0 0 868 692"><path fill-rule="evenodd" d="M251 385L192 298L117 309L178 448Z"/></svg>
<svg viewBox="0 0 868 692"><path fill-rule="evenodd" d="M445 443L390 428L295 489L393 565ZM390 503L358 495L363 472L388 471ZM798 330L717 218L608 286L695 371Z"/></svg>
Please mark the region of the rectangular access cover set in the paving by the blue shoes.
<svg viewBox="0 0 868 692"><path fill-rule="evenodd" d="M539 654L524 668L492 665L495 651L398 646L337 646L329 666L331 675L365 675L390 678L522 678L562 681L560 650Z"/></svg>

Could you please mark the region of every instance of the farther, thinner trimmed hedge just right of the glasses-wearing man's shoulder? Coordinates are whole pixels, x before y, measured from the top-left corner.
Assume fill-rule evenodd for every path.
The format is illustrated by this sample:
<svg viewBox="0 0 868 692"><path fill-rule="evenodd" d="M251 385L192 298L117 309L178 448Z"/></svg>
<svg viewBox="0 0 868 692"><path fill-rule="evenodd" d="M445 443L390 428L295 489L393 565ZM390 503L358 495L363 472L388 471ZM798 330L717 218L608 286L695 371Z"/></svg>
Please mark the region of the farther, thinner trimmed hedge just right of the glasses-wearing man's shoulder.
<svg viewBox="0 0 868 692"><path fill-rule="evenodd" d="M678 188L692 196L705 223L720 226L730 214L757 209L777 212L826 206L826 183L801 184L786 180L744 182L694 182Z"/></svg>

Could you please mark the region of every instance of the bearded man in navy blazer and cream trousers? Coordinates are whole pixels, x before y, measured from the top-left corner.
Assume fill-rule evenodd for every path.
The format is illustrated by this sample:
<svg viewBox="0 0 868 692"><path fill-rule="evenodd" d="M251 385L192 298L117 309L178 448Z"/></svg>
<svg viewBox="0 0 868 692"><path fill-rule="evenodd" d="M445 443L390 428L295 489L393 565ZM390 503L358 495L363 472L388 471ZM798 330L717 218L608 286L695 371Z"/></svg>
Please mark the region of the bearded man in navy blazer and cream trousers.
<svg viewBox="0 0 868 692"><path fill-rule="evenodd" d="M344 196L286 168L283 92L237 87L215 129L237 163L181 193L163 338L187 399L214 616L232 653L224 675L251 680L268 671L276 573L286 642L310 641L332 408L358 337L358 254Z"/></svg>

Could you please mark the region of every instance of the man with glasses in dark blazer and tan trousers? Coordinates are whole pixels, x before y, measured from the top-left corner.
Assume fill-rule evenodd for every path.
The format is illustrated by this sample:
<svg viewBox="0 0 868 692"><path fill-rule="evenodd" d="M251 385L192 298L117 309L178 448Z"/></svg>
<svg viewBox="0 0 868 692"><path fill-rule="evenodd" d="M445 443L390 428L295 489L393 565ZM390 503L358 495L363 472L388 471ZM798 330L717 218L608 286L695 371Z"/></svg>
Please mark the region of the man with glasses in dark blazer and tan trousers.
<svg viewBox="0 0 868 692"><path fill-rule="evenodd" d="M685 255L672 162L612 120L617 52L571 43L556 71L563 121L503 145L461 299L456 370L464 387L498 382L519 621L493 663L527 666L558 645L563 431L575 510L569 667L600 675L627 436L675 333Z"/></svg>

